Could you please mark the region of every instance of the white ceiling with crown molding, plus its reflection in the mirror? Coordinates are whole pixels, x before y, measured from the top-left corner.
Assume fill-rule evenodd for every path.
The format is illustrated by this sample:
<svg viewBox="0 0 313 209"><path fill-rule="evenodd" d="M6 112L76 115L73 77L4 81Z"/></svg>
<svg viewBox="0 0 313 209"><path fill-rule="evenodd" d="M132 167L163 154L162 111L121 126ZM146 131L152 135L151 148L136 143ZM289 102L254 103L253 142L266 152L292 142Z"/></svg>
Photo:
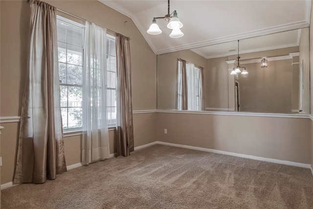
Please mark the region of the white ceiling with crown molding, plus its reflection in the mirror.
<svg viewBox="0 0 313 209"><path fill-rule="evenodd" d="M237 42L231 41L308 27L311 13L311 0L171 0L170 13L177 10L184 25L181 28L184 36L173 39L169 37L171 30L166 27L167 22L162 19L157 20L161 34L146 32L154 17L167 14L167 0L99 1L130 17L156 54L215 45L193 50L206 58L227 54L229 49L237 50ZM298 42L298 34L293 31L284 38L272 35L250 41L251 48L243 51L291 46ZM268 46L257 46L264 40Z"/></svg>

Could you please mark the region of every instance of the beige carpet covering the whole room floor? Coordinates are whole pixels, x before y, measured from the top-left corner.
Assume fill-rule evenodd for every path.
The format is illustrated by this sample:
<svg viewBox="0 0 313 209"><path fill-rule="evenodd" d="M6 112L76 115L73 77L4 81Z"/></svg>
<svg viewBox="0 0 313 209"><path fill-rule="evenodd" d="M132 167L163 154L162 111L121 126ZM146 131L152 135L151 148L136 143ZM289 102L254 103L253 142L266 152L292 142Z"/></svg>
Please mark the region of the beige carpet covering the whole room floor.
<svg viewBox="0 0 313 209"><path fill-rule="evenodd" d="M313 209L310 169L165 145L1 191L2 209Z"/></svg>

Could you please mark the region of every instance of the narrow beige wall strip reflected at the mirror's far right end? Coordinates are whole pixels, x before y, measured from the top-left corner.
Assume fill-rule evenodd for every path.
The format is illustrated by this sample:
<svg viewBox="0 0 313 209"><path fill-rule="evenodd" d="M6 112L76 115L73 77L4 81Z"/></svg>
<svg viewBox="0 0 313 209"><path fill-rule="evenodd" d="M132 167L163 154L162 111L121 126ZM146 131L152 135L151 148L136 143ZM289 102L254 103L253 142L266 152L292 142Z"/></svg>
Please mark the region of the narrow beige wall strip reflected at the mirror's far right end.
<svg viewBox="0 0 313 209"><path fill-rule="evenodd" d="M303 113L310 114L310 41L309 28L301 30L299 66L303 60Z"/></svg>

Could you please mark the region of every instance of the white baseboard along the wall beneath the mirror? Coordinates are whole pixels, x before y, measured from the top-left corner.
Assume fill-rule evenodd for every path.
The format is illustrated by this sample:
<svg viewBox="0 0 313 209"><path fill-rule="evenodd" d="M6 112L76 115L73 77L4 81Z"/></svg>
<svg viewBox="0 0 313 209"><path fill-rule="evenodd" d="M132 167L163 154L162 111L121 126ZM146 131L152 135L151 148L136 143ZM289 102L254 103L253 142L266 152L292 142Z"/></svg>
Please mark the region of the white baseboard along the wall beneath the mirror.
<svg viewBox="0 0 313 209"><path fill-rule="evenodd" d="M238 153L234 153L234 152L226 152L226 151L221 151L221 150L216 150L216 149L208 149L208 148L195 147L195 146L189 146L189 145L174 144L174 143L168 143L168 142L163 142L163 141L156 141L156 142L157 142L157 144L164 144L164 145L169 145L169 146L176 146L176 147L181 147L181 148L200 150L200 151L204 151L204 152L212 152L212 153L218 153L218 154L223 154L223 155L231 155L231 156L236 156L236 157L241 157L241 158L248 158L248 159L253 159L253 160L258 160L258 161L266 161L269 163L279 163L279 164L292 165L292 166L311 168L312 169L311 164L295 163L295 162L291 162L291 161L282 161L282 160L276 160L276 159L272 159L272 158L263 158L263 157L253 156L253 155L244 155L244 154L238 154Z"/></svg>

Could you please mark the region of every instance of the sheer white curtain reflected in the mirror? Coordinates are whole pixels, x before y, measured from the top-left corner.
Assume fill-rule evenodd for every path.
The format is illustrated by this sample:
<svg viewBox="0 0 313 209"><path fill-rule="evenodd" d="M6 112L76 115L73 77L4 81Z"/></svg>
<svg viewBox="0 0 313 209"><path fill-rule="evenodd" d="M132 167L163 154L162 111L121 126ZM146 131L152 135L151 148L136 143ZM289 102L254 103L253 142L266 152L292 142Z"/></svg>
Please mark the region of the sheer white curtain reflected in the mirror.
<svg viewBox="0 0 313 209"><path fill-rule="evenodd" d="M196 80L196 70L195 65L189 63L187 65L187 77L188 77L188 110L198 110L197 107L197 95L198 95L198 86Z"/></svg>

